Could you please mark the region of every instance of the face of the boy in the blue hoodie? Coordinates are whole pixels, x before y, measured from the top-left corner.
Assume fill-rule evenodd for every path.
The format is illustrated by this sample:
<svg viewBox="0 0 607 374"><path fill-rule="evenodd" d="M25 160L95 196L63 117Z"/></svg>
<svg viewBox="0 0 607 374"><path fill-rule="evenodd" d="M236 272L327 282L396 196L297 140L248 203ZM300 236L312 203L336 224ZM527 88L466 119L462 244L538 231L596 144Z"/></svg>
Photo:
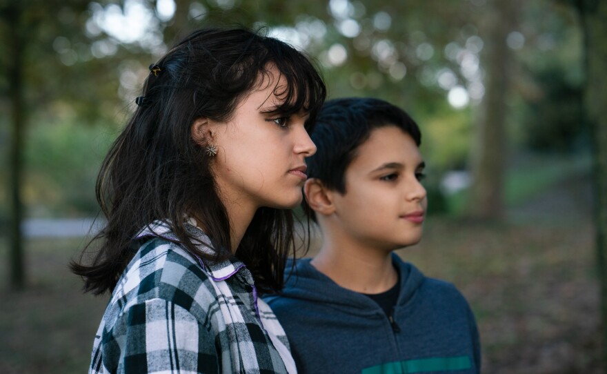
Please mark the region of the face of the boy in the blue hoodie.
<svg viewBox="0 0 607 374"><path fill-rule="evenodd" d="M424 160L410 135L396 126L372 130L346 169L346 193L332 193L337 224L370 248L417 244L427 206L423 173Z"/></svg>

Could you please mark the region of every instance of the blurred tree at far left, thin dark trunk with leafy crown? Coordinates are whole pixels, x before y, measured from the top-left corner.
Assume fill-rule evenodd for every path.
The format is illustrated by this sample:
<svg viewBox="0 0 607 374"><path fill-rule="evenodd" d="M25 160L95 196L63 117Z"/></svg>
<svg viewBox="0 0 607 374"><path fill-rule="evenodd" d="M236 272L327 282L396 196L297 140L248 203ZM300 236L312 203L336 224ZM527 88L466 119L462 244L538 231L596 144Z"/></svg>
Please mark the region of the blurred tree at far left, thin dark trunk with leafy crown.
<svg viewBox="0 0 607 374"><path fill-rule="evenodd" d="M88 118L104 114L103 105L115 95L100 73L100 61L92 59L90 38L83 32L89 19L88 3L66 1L0 2L0 104L9 108L10 157L9 278L12 288L23 288L25 268L21 220L23 219L23 151L27 124L34 116L52 117L61 103ZM87 63L77 64L81 59ZM87 77L87 79L79 79ZM89 78L90 77L90 78ZM74 79L70 79L74 78ZM66 85L66 81L70 81ZM111 82L113 80L109 80ZM99 83L95 86L96 83ZM94 89L92 89L94 86ZM115 87L115 86L114 86ZM115 88L110 88L115 92ZM42 115L44 113L44 115ZM48 118L46 118L48 121Z"/></svg>

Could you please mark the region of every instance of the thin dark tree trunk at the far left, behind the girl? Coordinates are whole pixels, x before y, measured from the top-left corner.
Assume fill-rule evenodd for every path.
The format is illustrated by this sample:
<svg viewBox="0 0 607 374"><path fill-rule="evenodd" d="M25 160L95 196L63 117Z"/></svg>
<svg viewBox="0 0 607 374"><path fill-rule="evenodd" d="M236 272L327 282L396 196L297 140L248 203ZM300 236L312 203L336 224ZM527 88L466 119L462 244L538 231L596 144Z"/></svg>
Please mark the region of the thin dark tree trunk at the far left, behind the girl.
<svg viewBox="0 0 607 374"><path fill-rule="evenodd" d="M9 204L10 204L10 285L21 289L25 284L25 266L23 264L23 235L21 221L23 204L21 202L21 181L23 171L23 130L25 112L23 111L23 28L21 26L21 8L19 1L11 1L8 10L9 30L12 33L8 40L10 69L8 71L10 115L12 136L10 139Z"/></svg>

